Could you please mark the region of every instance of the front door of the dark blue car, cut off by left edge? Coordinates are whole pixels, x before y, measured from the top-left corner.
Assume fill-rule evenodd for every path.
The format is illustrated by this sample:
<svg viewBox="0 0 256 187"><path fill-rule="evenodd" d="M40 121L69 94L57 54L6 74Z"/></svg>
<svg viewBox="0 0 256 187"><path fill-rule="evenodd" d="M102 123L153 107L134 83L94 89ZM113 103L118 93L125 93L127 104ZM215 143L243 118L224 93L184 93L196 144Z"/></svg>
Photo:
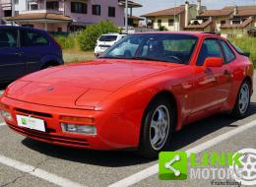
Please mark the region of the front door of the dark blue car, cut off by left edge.
<svg viewBox="0 0 256 187"><path fill-rule="evenodd" d="M0 30L0 82L13 81L25 74L25 59L19 48L18 30Z"/></svg>

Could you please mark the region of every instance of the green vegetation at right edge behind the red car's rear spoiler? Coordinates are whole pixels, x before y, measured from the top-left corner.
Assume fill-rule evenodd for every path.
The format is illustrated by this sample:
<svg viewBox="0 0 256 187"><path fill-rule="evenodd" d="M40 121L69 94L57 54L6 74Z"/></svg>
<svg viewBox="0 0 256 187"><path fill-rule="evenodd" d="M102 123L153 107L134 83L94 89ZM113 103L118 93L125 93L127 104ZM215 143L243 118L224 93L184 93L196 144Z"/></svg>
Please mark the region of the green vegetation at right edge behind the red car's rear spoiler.
<svg viewBox="0 0 256 187"><path fill-rule="evenodd" d="M230 37L228 38L233 44L241 48L244 52L250 52L250 59L256 68L256 37Z"/></svg>

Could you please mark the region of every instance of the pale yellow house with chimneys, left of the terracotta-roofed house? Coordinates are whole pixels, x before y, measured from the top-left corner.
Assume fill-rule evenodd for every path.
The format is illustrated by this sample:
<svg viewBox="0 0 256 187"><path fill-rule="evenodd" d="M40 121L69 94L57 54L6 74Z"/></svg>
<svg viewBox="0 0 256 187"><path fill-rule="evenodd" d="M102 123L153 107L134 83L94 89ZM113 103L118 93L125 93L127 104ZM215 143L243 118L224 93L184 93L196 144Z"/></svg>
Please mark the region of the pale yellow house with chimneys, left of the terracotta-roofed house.
<svg viewBox="0 0 256 187"><path fill-rule="evenodd" d="M183 31L193 18L196 18L205 7L201 7L201 1L198 0L198 4L189 4L185 2L184 5L179 7L160 10L157 12L143 15L146 18L146 22L149 20L152 23L152 28L159 30L164 27L168 31Z"/></svg>

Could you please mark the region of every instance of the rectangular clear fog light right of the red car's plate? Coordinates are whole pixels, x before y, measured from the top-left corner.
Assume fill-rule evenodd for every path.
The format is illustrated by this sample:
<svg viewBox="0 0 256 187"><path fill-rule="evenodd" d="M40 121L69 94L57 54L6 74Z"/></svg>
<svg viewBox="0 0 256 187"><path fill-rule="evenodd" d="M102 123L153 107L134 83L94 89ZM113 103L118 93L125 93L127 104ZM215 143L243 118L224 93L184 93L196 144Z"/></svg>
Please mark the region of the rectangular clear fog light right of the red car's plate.
<svg viewBox="0 0 256 187"><path fill-rule="evenodd" d="M96 135L96 126L93 125L61 123L61 129L63 132Z"/></svg>

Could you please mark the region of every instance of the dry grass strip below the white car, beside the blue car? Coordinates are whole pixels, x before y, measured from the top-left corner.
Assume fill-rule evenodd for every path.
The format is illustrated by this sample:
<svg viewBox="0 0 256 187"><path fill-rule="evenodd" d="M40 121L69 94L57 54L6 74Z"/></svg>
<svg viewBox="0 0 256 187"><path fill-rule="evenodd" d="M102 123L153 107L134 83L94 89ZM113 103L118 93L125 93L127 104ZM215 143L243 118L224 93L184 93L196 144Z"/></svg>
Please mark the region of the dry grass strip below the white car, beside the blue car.
<svg viewBox="0 0 256 187"><path fill-rule="evenodd" d="M79 49L64 49L63 59L67 63L77 63L93 60L95 58L94 51L80 51Z"/></svg>

